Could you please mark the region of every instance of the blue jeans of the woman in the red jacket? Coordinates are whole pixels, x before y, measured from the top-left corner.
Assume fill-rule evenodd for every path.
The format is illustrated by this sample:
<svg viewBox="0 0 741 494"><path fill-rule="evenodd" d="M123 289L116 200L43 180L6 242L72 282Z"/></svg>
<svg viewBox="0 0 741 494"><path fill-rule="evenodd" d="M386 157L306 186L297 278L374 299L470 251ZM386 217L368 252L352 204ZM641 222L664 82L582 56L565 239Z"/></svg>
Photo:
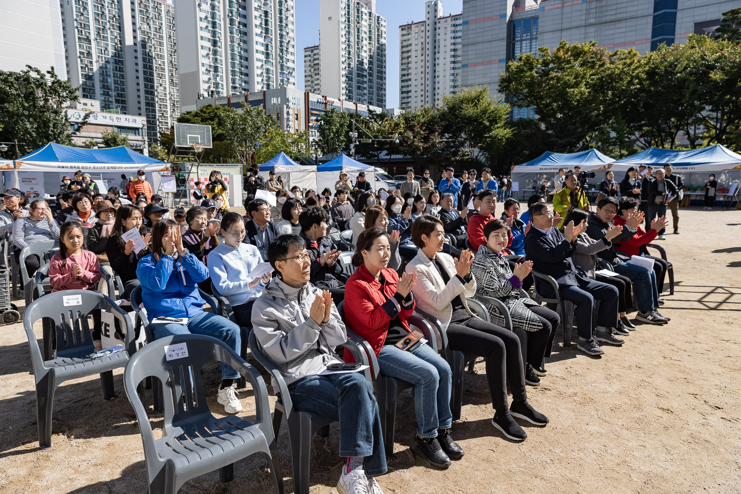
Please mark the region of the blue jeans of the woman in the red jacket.
<svg viewBox="0 0 741 494"><path fill-rule="evenodd" d="M451 427L453 373L448 362L428 344L420 344L414 350L384 345L378 365L383 375L414 384L414 413L420 438L435 438L438 429Z"/></svg>

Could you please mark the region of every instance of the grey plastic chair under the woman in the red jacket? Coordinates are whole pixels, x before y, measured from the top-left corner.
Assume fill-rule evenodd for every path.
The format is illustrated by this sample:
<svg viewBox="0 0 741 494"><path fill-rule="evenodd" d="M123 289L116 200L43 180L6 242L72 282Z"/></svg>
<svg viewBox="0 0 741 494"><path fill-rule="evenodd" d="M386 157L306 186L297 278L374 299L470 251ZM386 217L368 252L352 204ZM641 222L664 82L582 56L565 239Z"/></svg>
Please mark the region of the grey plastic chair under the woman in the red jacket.
<svg viewBox="0 0 741 494"><path fill-rule="evenodd" d="M344 305L345 301L342 301L340 302L339 307L337 307L337 311L339 312L342 321L345 321ZM431 324L425 319L414 315L409 316L408 322L410 327L416 327L420 333L424 334L425 338L428 340L427 344L430 345L433 350L437 351L437 339ZM378 401L379 415L381 418L383 445L385 447L386 455L393 456L393 430L394 425L396 424L396 402L399 401L399 395L402 394L402 391L408 390L413 387L414 384L399 378L382 375L378 365L378 360L376 360L376 353L373 351L371 344L369 344L368 341L365 341L365 338L356 334L347 321L345 321L345 329L348 331L348 336L362 343L365 353L367 354L368 358L363 361L363 363L371 366L369 370L371 370L373 381L376 383L376 399Z"/></svg>

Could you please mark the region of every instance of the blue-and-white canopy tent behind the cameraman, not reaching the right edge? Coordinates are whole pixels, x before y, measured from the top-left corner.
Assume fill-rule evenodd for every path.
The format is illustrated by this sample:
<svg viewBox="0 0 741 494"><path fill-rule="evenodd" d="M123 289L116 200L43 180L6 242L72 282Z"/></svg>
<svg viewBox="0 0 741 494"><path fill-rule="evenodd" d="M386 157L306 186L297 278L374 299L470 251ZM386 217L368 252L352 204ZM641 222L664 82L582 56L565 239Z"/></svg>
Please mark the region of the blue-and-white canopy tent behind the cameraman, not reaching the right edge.
<svg viewBox="0 0 741 494"><path fill-rule="evenodd" d="M522 200L524 201L528 198L528 192L535 193L540 190L544 180L548 180L548 189L554 190L554 176L558 173L559 168L565 168L568 171L577 166L582 167L582 172L596 173L594 178L587 181L588 184L599 184L599 182L605 180L605 172L613 161L613 158L594 149L581 153L551 153L546 151L534 160L512 167L510 174L512 192L521 191ZM616 176L615 180L619 182L622 180L622 176L620 178ZM527 187L528 182L533 187ZM516 196L516 194L513 196Z"/></svg>

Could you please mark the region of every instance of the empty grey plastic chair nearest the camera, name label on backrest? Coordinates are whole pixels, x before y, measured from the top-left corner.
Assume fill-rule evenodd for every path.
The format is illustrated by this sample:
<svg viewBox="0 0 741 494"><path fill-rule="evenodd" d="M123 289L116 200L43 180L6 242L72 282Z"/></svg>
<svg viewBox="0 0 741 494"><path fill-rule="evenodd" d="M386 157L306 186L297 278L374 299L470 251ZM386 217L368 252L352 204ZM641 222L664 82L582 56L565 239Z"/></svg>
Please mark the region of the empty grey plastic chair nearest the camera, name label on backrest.
<svg viewBox="0 0 741 494"><path fill-rule="evenodd" d="M179 344L187 345L187 356L167 360L167 347ZM250 381L256 421L236 415L216 418L210 413L201 378L201 369L209 361L225 362ZM165 421L159 439L154 438L137 390L150 375L159 378L165 389ZM190 478L217 469L222 482L232 481L234 462L259 452L268 455L273 489L283 493L265 382L222 341L200 335L160 338L131 357L124 371L124 389L142 433L150 494L175 494Z"/></svg>

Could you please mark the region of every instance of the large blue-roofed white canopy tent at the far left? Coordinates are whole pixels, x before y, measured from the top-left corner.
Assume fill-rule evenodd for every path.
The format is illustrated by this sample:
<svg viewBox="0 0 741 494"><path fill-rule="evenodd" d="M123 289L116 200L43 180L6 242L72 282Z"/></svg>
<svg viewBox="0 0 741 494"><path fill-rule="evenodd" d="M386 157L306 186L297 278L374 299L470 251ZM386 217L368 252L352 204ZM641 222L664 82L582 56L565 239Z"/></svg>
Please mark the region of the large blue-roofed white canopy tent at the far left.
<svg viewBox="0 0 741 494"><path fill-rule="evenodd" d="M122 174L136 176L136 170L144 170L156 193L162 173L170 170L165 161L144 156L125 146L93 150L53 142L16 161L5 162L1 168L5 172L5 187L22 190L29 201L43 198L45 194L56 197L63 185L62 177L67 175L74 179L77 170L90 173L101 193L106 193L108 187L119 187ZM122 196L124 194L122 191Z"/></svg>

